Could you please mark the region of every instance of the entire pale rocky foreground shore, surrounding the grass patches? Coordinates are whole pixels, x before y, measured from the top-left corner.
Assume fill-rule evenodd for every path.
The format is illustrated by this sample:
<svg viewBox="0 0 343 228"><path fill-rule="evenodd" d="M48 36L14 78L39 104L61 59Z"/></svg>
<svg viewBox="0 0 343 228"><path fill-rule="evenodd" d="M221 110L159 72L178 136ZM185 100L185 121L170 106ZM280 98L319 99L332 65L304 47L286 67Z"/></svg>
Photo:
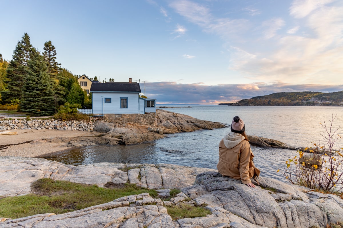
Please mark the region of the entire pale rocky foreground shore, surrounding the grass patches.
<svg viewBox="0 0 343 228"><path fill-rule="evenodd" d="M0 163L0 197L31 193L31 183L39 178L98 186L129 182L150 189L182 191L169 201L143 193L60 215L0 218L0 228L308 228L343 222L343 200L338 196L268 177L259 177L260 185L249 188L215 170L179 165L95 163L73 166L20 157L0 157ZM252 182L257 184L253 179ZM173 220L165 206L182 203L204 206L212 214Z"/></svg>

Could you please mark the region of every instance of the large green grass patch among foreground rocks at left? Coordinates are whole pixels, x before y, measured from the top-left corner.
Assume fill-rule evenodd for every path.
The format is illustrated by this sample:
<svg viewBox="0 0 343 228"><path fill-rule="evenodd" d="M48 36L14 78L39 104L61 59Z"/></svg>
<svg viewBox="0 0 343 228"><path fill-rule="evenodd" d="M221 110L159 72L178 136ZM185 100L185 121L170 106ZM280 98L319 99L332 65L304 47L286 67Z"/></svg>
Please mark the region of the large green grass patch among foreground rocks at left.
<svg viewBox="0 0 343 228"><path fill-rule="evenodd" d="M96 185L48 178L34 182L32 189L35 194L0 199L0 217L15 219L50 212L63 214L143 192L148 192L151 197L157 196L155 190L134 184L123 184L119 188L100 188Z"/></svg>

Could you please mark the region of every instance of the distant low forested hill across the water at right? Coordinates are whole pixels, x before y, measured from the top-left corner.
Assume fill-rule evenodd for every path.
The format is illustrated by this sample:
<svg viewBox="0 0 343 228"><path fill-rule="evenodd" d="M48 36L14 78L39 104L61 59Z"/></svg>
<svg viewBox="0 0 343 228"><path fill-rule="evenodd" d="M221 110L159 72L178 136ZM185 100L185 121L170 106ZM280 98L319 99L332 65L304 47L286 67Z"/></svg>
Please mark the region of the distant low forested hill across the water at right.
<svg viewBox="0 0 343 228"><path fill-rule="evenodd" d="M237 106L343 106L343 91L333 93L322 92L282 92L265 96L243 99L236 103L219 105Z"/></svg>

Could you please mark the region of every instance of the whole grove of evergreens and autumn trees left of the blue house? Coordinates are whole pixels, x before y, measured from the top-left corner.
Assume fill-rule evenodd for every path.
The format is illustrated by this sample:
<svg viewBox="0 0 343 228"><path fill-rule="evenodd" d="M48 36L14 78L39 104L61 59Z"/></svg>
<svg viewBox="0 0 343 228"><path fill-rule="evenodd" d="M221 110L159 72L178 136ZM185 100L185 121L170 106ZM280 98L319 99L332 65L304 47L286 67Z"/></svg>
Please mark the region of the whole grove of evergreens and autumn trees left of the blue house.
<svg viewBox="0 0 343 228"><path fill-rule="evenodd" d="M0 53L0 109L49 116L63 105L91 108L91 100L78 83L80 76L61 67L52 42L45 42L43 50L34 48L24 33L10 61Z"/></svg>

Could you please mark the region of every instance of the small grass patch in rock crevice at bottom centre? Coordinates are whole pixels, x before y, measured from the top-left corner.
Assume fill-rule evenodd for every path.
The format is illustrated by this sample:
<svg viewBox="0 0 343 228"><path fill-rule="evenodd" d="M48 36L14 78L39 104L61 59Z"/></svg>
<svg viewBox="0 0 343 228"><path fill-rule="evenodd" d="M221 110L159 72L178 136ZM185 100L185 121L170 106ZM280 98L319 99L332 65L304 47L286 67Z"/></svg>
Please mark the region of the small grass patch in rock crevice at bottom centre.
<svg viewBox="0 0 343 228"><path fill-rule="evenodd" d="M180 203L179 205L166 206L168 215L174 220L179 218L195 218L203 217L212 214L210 210L204 207L192 206L185 203Z"/></svg>

